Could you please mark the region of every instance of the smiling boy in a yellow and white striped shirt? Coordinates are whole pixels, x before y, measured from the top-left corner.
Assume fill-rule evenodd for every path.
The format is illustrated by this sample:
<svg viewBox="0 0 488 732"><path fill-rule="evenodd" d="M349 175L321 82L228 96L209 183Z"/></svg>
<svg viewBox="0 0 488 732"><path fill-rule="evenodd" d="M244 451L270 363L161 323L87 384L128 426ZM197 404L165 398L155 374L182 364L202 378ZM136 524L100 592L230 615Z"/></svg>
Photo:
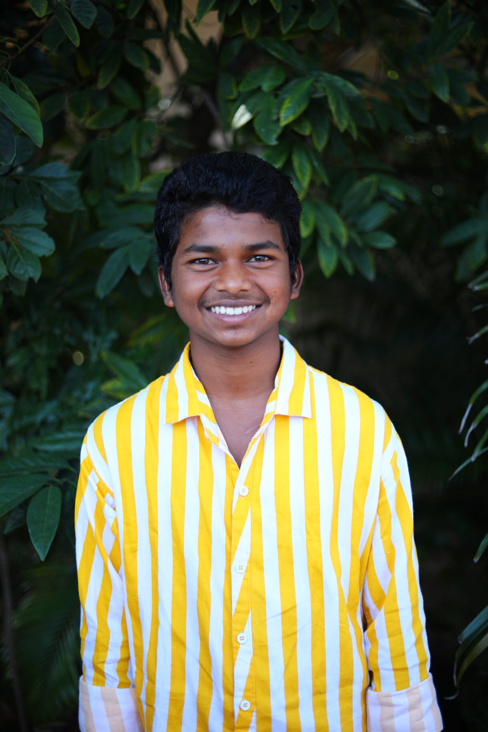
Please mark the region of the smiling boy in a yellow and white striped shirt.
<svg viewBox="0 0 488 732"><path fill-rule="evenodd" d="M83 732L438 732L402 444L279 336L300 203L249 154L159 191L178 364L89 428Z"/></svg>

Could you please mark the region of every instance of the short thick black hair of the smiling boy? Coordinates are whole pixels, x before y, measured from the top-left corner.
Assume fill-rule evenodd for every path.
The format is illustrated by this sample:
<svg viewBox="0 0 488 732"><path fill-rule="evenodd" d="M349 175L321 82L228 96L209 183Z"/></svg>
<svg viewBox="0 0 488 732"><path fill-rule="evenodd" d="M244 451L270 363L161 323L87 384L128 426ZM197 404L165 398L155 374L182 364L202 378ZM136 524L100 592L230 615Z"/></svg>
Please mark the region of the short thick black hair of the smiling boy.
<svg viewBox="0 0 488 732"><path fill-rule="evenodd" d="M182 223L195 211L214 205L239 214L260 213L276 222L294 282L301 243L301 203L290 177L248 152L211 152L174 168L157 195L154 232L159 264L168 285Z"/></svg>

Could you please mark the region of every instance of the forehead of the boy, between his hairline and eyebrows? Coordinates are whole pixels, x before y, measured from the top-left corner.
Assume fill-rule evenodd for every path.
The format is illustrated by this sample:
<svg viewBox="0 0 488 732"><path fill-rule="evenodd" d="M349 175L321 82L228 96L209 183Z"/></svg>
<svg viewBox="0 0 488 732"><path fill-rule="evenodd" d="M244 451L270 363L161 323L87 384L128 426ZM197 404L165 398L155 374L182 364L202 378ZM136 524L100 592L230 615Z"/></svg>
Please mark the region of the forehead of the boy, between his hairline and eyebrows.
<svg viewBox="0 0 488 732"><path fill-rule="evenodd" d="M214 244L221 247L271 241L285 251L279 224L258 212L236 213L225 206L209 206L195 211L181 225L177 251L189 244Z"/></svg>

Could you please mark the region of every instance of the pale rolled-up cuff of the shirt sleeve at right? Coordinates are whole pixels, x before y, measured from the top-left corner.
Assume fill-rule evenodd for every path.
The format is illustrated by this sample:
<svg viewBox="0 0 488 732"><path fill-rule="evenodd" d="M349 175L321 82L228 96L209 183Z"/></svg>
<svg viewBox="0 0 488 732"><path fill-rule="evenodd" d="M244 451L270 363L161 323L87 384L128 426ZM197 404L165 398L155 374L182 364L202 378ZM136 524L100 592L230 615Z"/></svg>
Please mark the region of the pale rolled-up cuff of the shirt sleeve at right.
<svg viewBox="0 0 488 732"><path fill-rule="evenodd" d="M402 691L366 693L368 732L440 732L442 718L432 676Z"/></svg>

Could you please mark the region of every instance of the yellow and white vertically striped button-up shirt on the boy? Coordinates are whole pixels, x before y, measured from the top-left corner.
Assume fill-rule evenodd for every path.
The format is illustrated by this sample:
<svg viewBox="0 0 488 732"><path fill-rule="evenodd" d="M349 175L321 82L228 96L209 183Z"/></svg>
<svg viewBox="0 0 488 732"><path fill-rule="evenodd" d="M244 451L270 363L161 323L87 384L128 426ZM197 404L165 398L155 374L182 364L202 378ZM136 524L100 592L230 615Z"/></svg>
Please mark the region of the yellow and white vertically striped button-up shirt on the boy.
<svg viewBox="0 0 488 732"><path fill-rule="evenodd" d="M241 468L189 360L89 428L82 732L438 732L402 444L282 339Z"/></svg>

